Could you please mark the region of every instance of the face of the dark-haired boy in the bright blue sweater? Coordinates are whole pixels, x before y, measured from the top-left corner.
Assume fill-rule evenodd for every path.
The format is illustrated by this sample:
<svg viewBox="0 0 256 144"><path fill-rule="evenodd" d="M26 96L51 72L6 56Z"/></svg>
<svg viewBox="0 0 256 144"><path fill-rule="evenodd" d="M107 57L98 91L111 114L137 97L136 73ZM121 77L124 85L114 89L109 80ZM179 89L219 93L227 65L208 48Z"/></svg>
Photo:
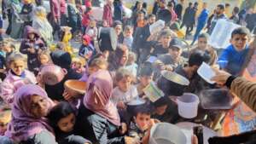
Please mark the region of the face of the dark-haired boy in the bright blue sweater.
<svg viewBox="0 0 256 144"><path fill-rule="evenodd" d="M249 38L247 35L235 34L231 38L230 43L236 48L237 51L241 51L246 48L248 40Z"/></svg>

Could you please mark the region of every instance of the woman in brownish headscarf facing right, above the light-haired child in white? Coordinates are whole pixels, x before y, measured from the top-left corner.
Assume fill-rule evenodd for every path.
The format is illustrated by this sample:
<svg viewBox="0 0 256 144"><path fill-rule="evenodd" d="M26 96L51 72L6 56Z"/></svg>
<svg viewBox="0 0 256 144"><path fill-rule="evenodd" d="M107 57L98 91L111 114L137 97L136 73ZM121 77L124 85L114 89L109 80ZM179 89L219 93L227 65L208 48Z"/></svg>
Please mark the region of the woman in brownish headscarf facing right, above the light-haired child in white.
<svg viewBox="0 0 256 144"><path fill-rule="evenodd" d="M125 66L128 60L129 49L125 45L119 45L113 54L109 55L108 70L116 71L119 67Z"/></svg>

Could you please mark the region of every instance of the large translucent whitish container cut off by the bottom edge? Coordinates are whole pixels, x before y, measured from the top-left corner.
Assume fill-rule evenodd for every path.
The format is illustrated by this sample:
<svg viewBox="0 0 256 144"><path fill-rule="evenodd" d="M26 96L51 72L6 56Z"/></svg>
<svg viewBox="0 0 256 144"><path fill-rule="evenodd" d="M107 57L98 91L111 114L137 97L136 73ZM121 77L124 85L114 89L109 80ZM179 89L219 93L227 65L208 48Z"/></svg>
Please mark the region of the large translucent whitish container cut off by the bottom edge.
<svg viewBox="0 0 256 144"><path fill-rule="evenodd" d="M168 123L154 124L148 144L186 144L186 135L179 127Z"/></svg>

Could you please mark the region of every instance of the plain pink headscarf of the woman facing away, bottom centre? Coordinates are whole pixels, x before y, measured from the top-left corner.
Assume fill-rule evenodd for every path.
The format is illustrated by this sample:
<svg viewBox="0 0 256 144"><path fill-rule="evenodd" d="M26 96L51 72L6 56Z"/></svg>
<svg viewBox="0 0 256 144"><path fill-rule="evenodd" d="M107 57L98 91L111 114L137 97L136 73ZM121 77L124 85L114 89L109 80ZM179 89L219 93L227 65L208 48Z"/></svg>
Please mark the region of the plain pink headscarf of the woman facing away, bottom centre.
<svg viewBox="0 0 256 144"><path fill-rule="evenodd" d="M109 122L120 125L117 108L110 101L113 90L113 78L106 70L93 73L87 80L88 87L84 95L84 106L96 112Z"/></svg>

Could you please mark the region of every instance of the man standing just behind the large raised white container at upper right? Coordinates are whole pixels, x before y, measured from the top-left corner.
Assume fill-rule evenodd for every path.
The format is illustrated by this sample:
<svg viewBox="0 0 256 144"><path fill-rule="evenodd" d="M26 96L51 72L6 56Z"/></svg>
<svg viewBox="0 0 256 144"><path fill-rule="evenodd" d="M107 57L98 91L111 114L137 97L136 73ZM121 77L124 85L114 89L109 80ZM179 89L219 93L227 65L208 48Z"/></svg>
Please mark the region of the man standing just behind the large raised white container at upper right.
<svg viewBox="0 0 256 144"><path fill-rule="evenodd" d="M216 26L218 20L220 19L227 19L226 15L224 14L224 5L223 4L218 4L217 9L215 11L215 15L212 18L212 21L210 23L208 32L210 35L212 34L212 31L214 29L214 27Z"/></svg>

